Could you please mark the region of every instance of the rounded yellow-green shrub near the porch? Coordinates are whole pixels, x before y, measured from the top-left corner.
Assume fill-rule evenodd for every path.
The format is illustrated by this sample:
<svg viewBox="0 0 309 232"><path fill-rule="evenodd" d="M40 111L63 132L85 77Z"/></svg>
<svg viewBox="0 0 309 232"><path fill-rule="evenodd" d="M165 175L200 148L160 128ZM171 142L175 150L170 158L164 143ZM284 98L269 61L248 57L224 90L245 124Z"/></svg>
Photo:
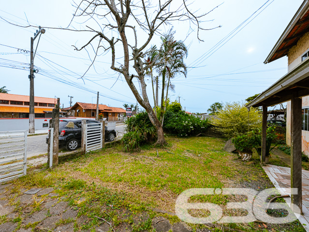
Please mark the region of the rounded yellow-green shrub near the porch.
<svg viewBox="0 0 309 232"><path fill-rule="evenodd" d="M237 135L246 134L249 131L261 127L261 113L255 109L248 109L242 102L233 102L225 104L224 108L219 110L218 118L213 119L212 124L217 127L227 138L233 138Z"/></svg>

